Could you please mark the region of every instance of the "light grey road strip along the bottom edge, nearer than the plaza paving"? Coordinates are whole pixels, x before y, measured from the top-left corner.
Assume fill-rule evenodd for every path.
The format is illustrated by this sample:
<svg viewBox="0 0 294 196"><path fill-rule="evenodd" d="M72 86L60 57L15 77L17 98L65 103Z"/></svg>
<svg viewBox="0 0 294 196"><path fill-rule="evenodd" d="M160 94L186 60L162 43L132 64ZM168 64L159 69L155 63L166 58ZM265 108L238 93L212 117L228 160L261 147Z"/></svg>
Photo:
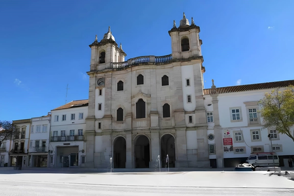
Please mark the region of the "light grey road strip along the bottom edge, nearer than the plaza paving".
<svg viewBox="0 0 294 196"><path fill-rule="evenodd" d="M0 181L0 196L293 196L291 189L105 186Z"/></svg>

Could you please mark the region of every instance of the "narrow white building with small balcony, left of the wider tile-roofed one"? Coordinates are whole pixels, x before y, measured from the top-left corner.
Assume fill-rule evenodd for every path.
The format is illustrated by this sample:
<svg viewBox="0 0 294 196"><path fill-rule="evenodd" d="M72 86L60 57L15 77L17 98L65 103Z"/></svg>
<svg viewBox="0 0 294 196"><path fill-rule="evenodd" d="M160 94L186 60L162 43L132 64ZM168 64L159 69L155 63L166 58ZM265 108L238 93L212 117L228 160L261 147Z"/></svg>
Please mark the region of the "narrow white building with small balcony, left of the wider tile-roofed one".
<svg viewBox="0 0 294 196"><path fill-rule="evenodd" d="M31 119L29 132L29 167L47 167L51 115Z"/></svg>

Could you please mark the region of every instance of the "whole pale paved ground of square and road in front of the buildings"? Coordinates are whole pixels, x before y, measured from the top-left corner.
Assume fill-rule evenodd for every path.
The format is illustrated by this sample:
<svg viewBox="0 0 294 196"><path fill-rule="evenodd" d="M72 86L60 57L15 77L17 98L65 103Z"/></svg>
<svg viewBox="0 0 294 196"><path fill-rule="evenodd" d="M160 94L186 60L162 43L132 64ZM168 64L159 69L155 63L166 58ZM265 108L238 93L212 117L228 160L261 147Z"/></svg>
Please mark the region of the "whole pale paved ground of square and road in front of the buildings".
<svg viewBox="0 0 294 196"><path fill-rule="evenodd" d="M11 173L0 196L293 196L289 176L268 172Z"/></svg>

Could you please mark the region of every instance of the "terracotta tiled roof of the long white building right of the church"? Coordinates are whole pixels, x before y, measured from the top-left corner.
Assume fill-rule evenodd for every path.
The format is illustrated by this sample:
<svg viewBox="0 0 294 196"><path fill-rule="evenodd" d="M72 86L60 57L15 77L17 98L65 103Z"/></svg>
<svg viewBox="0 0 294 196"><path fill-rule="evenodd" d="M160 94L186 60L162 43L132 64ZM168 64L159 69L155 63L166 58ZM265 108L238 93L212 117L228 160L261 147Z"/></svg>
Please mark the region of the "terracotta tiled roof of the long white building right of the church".
<svg viewBox="0 0 294 196"><path fill-rule="evenodd" d="M290 85L294 86L294 80L266 82L266 83L259 83L259 84L246 84L246 85L239 85L239 86L227 86L227 87L216 88L216 94L254 91L254 90L261 90L261 89L274 89L279 87L287 87ZM210 95L210 94L212 94L211 89L203 89L203 95Z"/></svg>

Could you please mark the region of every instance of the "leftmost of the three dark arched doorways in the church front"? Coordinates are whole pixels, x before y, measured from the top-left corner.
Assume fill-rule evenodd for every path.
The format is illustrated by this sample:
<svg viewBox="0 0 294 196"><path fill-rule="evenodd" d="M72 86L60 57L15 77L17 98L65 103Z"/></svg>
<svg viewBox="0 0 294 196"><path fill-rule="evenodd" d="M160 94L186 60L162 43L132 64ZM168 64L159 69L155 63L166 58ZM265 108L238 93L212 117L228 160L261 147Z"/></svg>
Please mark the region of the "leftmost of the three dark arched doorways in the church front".
<svg viewBox="0 0 294 196"><path fill-rule="evenodd" d="M114 168L125 168L126 153L125 153L125 139L117 137L113 145L113 166Z"/></svg>

